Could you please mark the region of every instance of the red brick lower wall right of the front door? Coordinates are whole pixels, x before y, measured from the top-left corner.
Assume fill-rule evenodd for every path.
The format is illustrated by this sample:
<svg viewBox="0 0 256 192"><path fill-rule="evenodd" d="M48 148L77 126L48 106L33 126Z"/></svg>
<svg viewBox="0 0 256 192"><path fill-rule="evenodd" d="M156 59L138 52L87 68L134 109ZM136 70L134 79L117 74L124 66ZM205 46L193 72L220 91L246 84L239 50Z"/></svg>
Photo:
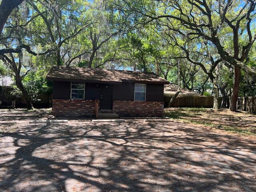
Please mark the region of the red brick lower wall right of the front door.
<svg viewBox="0 0 256 192"><path fill-rule="evenodd" d="M113 112L128 117L162 116L164 102L160 101L113 101Z"/></svg>

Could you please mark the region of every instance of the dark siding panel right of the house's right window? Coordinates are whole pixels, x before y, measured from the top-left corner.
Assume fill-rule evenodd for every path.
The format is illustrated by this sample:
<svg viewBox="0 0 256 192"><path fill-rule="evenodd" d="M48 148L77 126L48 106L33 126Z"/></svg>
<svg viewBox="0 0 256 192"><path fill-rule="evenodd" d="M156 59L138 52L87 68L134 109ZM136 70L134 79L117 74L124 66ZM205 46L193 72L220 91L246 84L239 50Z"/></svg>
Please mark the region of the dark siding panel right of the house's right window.
<svg viewBox="0 0 256 192"><path fill-rule="evenodd" d="M147 84L146 101L164 101L164 85Z"/></svg>

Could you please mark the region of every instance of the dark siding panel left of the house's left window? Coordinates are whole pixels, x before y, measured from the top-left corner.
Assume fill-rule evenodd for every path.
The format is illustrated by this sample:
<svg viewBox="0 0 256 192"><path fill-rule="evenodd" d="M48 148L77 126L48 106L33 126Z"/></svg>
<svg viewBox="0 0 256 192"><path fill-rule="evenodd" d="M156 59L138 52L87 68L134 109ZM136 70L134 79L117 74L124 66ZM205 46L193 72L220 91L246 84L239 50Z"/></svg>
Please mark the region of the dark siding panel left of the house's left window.
<svg viewBox="0 0 256 192"><path fill-rule="evenodd" d="M70 82L54 81L53 82L54 99L70 99Z"/></svg>

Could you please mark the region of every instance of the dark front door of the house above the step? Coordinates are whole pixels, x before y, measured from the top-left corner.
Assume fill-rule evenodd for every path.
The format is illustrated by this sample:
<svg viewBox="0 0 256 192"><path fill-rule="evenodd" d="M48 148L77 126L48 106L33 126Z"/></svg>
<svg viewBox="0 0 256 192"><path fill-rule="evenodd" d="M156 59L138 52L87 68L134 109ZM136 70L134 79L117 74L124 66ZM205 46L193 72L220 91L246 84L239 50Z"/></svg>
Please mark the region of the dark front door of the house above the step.
<svg viewBox="0 0 256 192"><path fill-rule="evenodd" d="M100 109L112 109L112 85L101 84Z"/></svg>

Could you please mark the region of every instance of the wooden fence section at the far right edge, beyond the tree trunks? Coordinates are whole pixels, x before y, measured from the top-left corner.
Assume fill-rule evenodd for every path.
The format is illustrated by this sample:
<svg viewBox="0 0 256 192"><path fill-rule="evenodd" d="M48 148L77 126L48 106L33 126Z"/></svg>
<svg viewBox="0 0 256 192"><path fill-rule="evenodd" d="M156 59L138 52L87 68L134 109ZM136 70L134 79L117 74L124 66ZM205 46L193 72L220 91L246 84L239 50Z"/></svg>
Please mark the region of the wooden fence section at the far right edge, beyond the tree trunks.
<svg viewBox="0 0 256 192"><path fill-rule="evenodd" d="M256 113L256 97L239 97L237 100L237 109Z"/></svg>

